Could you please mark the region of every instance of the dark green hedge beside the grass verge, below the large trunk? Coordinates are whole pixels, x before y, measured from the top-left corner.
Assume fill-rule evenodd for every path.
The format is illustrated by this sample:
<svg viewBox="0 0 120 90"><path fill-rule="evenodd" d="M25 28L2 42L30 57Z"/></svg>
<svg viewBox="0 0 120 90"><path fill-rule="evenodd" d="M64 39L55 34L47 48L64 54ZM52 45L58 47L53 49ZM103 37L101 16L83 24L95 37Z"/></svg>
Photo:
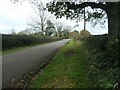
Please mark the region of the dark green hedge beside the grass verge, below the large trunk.
<svg viewBox="0 0 120 90"><path fill-rule="evenodd" d="M113 88L116 82L120 82L116 43L110 44L108 35L90 36L85 41L88 48L89 75L97 87Z"/></svg>

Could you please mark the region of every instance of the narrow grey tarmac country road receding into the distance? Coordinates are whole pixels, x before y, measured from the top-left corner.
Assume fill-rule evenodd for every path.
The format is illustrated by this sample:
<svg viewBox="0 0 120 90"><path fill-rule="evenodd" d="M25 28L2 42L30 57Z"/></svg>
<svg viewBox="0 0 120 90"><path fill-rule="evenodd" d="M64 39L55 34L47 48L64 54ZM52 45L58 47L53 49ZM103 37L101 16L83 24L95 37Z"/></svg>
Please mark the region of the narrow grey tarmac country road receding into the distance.
<svg viewBox="0 0 120 90"><path fill-rule="evenodd" d="M2 88L9 88L12 82L42 63L47 62L56 51L70 39L35 46L2 56Z"/></svg>

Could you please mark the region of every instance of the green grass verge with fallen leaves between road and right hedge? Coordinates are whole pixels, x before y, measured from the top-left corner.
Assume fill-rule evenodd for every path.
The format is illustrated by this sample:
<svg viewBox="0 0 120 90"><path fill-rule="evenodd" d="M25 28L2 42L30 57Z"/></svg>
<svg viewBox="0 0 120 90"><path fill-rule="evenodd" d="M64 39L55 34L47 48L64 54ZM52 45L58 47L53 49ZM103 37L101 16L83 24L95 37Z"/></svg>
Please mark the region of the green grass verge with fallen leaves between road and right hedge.
<svg viewBox="0 0 120 90"><path fill-rule="evenodd" d="M84 43L71 40L33 77L30 88L90 88Z"/></svg>

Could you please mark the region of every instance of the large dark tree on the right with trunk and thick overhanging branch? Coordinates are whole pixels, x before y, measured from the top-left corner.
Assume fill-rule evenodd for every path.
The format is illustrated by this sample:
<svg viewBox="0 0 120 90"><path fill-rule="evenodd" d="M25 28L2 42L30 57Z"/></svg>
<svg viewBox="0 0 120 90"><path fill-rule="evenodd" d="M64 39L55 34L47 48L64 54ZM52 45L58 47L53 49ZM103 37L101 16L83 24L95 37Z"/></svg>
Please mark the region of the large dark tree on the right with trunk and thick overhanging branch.
<svg viewBox="0 0 120 90"><path fill-rule="evenodd" d="M118 38L120 30L118 29L120 14L118 2L78 2L80 0L73 0L75 2L50 2L47 4L48 11L54 13L58 18L65 16L66 18L76 18L79 16L83 8L91 7L92 9L102 9L107 13L108 17L108 33L110 38ZM99 13L94 13L100 16Z"/></svg>

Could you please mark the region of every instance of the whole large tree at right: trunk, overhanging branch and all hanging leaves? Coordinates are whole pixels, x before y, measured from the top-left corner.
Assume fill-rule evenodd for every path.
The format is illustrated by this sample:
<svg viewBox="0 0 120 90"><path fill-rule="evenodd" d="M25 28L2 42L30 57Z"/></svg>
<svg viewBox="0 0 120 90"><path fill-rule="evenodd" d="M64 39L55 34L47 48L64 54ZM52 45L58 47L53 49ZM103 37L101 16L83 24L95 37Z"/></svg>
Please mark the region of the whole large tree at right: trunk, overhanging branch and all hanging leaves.
<svg viewBox="0 0 120 90"><path fill-rule="evenodd" d="M100 2L99 0L92 2L91 0L88 0L88 2L84 0L58 2L55 0L55 2L47 3L48 11L53 13L56 18L66 17L67 19L80 20L83 18L84 9L87 8L85 21L91 21L94 23L93 26L97 23L104 25L105 19L108 19L109 40L120 36L119 6L119 2ZM89 9L93 10L89 11Z"/></svg>

